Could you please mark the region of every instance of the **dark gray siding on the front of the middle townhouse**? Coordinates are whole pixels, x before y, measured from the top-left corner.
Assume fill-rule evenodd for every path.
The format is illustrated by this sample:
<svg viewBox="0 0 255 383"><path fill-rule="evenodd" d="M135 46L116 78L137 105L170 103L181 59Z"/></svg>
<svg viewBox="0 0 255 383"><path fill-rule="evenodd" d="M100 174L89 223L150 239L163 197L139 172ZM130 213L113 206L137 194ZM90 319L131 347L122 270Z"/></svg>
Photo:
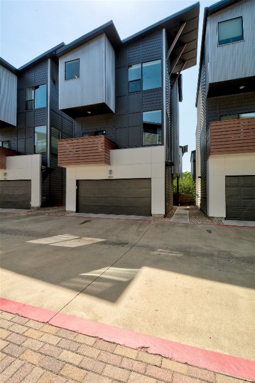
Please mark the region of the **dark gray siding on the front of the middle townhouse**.
<svg viewBox="0 0 255 383"><path fill-rule="evenodd" d="M76 119L75 137L106 130L107 137L116 142L118 148L142 146L142 112L163 109L163 87L128 93L128 65L162 61L162 48L162 31L158 31L117 52L116 113Z"/></svg>

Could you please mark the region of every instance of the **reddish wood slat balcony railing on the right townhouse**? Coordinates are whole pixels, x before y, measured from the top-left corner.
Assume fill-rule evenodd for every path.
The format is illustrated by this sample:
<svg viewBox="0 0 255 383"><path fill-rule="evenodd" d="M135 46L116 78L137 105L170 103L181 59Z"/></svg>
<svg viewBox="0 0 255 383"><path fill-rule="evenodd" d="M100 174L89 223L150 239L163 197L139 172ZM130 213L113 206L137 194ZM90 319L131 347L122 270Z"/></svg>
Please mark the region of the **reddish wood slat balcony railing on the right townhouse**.
<svg viewBox="0 0 255 383"><path fill-rule="evenodd" d="M211 122L207 158L216 154L255 152L255 118Z"/></svg>

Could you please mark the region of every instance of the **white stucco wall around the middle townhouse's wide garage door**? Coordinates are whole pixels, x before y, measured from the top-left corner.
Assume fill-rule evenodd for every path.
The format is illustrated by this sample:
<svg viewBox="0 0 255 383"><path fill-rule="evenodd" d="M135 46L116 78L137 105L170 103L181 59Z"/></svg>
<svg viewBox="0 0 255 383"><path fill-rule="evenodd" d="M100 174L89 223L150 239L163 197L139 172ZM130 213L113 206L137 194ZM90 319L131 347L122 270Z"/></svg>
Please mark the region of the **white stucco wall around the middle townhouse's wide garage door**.
<svg viewBox="0 0 255 383"><path fill-rule="evenodd" d="M109 170L112 170L111 176ZM66 209L76 210L76 180L151 179L151 213L165 213L164 146L111 150L111 166L80 165L66 168Z"/></svg>

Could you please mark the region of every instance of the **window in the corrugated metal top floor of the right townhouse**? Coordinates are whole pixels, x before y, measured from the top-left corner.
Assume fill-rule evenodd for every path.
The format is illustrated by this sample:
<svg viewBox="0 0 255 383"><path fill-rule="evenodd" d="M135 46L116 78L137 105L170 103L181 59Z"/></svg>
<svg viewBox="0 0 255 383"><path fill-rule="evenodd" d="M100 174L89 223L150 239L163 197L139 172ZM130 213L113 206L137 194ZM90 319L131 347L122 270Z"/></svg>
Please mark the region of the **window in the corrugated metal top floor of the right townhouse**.
<svg viewBox="0 0 255 383"><path fill-rule="evenodd" d="M219 45L244 39L243 17L232 18L231 20L218 23Z"/></svg>

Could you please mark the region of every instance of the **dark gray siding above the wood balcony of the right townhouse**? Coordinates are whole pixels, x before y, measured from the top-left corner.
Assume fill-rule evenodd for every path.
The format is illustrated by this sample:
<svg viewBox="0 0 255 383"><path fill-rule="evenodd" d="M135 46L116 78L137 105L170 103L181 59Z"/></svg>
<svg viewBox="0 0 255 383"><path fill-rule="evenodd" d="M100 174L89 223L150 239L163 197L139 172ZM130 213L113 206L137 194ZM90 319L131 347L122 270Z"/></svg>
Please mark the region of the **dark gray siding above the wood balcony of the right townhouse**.
<svg viewBox="0 0 255 383"><path fill-rule="evenodd" d="M220 116L255 112L255 92L207 99L207 124L220 121Z"/></svg>

